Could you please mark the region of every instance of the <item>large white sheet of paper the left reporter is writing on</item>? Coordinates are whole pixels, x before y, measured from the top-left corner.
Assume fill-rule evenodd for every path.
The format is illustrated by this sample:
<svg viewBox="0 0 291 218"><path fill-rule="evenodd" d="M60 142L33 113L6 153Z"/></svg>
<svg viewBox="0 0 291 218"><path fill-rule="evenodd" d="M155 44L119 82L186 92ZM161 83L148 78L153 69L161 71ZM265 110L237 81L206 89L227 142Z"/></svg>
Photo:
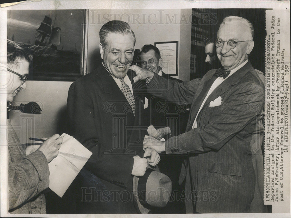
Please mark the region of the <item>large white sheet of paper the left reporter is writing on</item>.
<svg viewBox="0 0 291 218"><path fill-rule="evenodd" d="M63 143L59 154L49 162L49 188L60 197L63 196L92 155L92 152L74 137L65 133L61 137Z"/></svg>

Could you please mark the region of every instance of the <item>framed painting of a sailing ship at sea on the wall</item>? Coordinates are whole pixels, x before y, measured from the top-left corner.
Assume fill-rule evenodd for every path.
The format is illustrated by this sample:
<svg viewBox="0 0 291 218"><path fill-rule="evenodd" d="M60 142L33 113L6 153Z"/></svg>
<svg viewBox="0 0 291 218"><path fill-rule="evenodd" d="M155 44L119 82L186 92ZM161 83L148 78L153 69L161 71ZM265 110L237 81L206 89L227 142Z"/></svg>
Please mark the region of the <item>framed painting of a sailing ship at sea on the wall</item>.
<svg viewBox="0 0 291 218"><path fill-rule="evenodd" d="M86 74L86 10L8 10L7 38L33 54L29 80L75 81Z"/></svg>

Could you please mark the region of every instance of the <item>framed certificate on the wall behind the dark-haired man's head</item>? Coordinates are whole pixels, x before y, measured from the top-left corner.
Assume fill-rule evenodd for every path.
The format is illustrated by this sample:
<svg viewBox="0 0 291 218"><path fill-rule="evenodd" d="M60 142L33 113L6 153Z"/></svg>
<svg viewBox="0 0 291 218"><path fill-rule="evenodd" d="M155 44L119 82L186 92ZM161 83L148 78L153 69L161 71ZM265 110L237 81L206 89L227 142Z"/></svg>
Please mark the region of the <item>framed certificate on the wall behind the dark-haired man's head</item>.
<svg viewBox="0 0 291 218"><path fill-rule="evenodd" d="M169 76L178 76L178 43L178 41L155 42L155 47L159 49L163 60L162 71Z"/></svg>

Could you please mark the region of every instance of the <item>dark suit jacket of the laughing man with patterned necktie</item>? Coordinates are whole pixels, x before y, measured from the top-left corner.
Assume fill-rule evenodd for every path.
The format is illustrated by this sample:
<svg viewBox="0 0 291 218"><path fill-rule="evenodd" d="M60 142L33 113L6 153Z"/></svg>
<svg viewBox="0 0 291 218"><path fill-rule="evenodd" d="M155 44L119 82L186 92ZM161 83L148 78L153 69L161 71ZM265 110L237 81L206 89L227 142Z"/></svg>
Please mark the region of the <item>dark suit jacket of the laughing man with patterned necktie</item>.
<svg viewBox="0 0 291 218"><path fill-rule="evenodd" d="M134 73L129 70L127 75L133 81ZM146 129L141 126L144 86L140 84L132 83L135 116L103 65L70 87L67 110L71 134L93 153L75 184L83 187L83 192L80 187L75 190L83 201L84 193L93 194L87 194L85 202L76 206L76 213L136 213L131 195L131 172L133 156L143 157ZM102 193L96 194L98 191ZM77 204L78 201L80 199L76 199Z"/></svg>

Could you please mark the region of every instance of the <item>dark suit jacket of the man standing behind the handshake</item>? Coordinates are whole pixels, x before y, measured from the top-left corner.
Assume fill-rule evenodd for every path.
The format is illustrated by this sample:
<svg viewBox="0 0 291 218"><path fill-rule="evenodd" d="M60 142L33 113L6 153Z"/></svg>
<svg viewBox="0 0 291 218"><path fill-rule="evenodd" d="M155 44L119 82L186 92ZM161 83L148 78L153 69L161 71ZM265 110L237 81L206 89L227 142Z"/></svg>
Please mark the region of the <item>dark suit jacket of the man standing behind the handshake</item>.
<svg viewBox="0 0 291 218"><path fill-rule="evenodd" d="M179 83L183 82L163 72L162 77ZM165 101L162 98L162 92L159 96L151 94L145 96L148 99L148 108L145 109L145 123L152 124L156 129L169 126L172 135L184 133L189 117L189 111L186 110L187 106L179 101Z"/></svg>

